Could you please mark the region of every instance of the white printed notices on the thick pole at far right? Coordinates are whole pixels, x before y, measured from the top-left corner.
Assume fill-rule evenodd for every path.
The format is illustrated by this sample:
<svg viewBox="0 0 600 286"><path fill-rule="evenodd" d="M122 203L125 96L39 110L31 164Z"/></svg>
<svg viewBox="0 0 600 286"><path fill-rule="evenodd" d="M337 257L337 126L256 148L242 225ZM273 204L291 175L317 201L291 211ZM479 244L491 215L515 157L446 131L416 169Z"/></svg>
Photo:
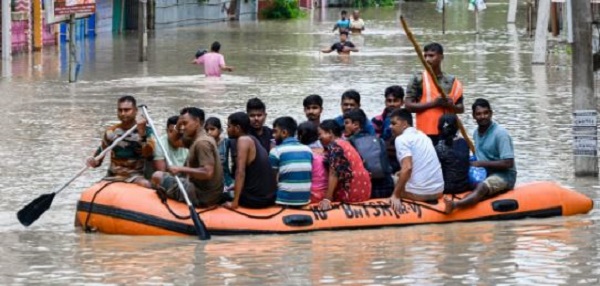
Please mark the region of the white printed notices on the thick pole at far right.
<svg viewBox="0 0 600 286"><path fill-rule="evenodd" d="M598 154L597 118L595 110L573 112L573 155L586 157Z"/></svg>

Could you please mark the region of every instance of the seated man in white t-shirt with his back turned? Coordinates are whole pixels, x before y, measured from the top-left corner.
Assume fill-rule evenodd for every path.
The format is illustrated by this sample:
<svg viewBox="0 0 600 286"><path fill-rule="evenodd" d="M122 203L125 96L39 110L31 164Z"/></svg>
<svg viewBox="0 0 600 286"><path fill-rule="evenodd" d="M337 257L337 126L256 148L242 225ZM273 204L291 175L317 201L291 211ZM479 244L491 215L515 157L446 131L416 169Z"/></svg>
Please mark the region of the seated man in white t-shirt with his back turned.
<svg viewBox="0 0 600 286"><path fill-rule="evenodd" d="M444 192L442 167L431 139L412 125L412 114L404 108L390 115L390 128L396 136L396 157L401 166L390 198L396 210L401 207L402 198L431 201L441 198Z"/></svg>

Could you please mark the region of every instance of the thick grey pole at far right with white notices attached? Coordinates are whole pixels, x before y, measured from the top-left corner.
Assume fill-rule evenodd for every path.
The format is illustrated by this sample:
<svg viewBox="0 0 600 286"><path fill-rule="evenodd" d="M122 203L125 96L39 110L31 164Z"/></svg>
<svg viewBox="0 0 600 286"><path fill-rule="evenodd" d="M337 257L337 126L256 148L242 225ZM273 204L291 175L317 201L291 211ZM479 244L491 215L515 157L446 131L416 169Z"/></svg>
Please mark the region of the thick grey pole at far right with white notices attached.
<svg viewBox="0 0 600 286"><path fill-rule="evenodd" d="M571 1L573 19L573 157L575 176L598 176L598 111L592 69L590 0ZM544 29L538 27L538 29Z"/></svg>

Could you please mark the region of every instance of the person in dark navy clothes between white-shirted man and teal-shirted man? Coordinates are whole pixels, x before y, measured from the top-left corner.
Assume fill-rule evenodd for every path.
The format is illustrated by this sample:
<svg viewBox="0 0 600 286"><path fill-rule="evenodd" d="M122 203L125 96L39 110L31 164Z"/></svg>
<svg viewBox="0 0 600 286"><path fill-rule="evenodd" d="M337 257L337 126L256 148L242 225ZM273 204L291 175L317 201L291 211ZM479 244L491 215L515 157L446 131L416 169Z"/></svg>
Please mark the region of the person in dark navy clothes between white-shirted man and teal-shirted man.
<svg viewBox="0 0 600 286"><path fill-rule="evenodd" d="M469 146L458 136L458 117L446 113L438 123L440 141L435 146L442 173L444 194L460 194L469 190Z"/></svg>

